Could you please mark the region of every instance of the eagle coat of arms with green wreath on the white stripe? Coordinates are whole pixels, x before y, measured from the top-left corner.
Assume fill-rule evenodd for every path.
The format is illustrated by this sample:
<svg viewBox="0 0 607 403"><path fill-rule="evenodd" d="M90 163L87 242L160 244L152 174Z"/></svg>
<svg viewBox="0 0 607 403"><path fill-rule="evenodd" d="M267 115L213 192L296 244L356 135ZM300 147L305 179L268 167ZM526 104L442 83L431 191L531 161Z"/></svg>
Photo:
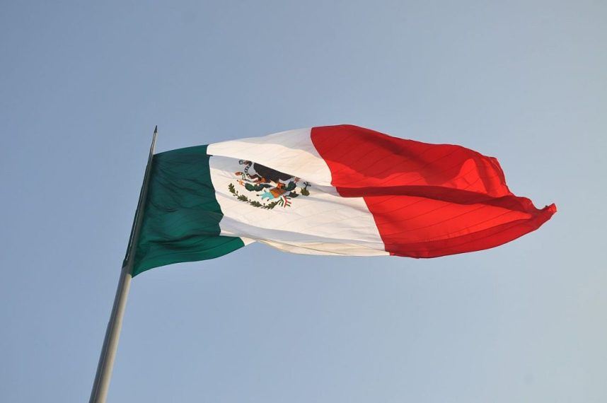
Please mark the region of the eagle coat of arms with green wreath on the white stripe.
<svg viewBox="0 0 607 403"><path fill-rule="evenodd" d="M238 163L243 165L243 170L234 173L238 177L236 182L252 194L241 194L233 183L228 185L228 190L241 202L269 210L275 206L289 207L291 199L310 194L310 184L299 177L248 160L239 160Z"/></svg>

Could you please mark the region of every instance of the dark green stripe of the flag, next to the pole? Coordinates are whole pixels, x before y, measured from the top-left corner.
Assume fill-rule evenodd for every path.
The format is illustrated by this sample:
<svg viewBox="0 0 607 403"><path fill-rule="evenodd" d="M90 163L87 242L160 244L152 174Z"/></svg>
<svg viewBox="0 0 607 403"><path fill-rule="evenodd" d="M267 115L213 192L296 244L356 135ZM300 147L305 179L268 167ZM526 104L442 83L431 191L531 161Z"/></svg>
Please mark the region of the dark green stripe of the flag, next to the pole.
<svg viewBox="0 0 607 403"><path fill-rule="evenodd" d="M166 264L214 259L243 247L221 236L207 146L158 153L151 167L133 276Z"/></svg>

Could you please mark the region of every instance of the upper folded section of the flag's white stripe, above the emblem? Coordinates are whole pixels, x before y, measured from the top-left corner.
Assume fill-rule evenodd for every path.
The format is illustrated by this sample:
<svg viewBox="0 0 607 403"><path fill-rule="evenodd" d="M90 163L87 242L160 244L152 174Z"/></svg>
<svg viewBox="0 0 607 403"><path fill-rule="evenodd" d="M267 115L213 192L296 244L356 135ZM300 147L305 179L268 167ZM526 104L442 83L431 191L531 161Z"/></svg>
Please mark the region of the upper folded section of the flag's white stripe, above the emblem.
<svg viewBox="0 0 607 403"><path fill-rule="evenodd" d="M305 178L317 186L331 186L331 171L314 148L311 129L296 129L270 134L209 144L207 153L250 160L280 172ZM330 192L330 189L327 189Z"/></svg>

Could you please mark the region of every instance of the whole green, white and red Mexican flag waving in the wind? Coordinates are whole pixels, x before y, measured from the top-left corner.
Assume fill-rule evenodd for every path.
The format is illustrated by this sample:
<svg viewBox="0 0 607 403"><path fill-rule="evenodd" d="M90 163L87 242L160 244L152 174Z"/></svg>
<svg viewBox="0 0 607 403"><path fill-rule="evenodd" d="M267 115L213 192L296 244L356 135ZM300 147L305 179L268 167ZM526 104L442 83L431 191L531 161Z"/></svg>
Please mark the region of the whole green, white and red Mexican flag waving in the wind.
<svg viewBox="0 0 607 403"><path fill-rule="evenodd" d="M298 129L158 153L133 275L253 242L306 255L439 257L539 228L495 158L362 127Z"/></svg>

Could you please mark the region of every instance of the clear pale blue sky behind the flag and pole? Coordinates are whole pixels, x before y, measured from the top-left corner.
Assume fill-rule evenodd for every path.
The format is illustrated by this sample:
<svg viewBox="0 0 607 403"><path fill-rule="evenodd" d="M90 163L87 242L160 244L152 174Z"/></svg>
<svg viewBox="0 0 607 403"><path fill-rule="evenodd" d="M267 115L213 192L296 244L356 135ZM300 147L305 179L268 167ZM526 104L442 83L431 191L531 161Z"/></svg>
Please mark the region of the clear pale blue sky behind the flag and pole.
<svg viewBox="0 0 607 403"><path fill-rule="evenodd" d="M439 259L250 245L132 283L110 402L606 402L603 1L2 1L0 401L86 402L157 151L350 123L559 212Z"/></svg>

